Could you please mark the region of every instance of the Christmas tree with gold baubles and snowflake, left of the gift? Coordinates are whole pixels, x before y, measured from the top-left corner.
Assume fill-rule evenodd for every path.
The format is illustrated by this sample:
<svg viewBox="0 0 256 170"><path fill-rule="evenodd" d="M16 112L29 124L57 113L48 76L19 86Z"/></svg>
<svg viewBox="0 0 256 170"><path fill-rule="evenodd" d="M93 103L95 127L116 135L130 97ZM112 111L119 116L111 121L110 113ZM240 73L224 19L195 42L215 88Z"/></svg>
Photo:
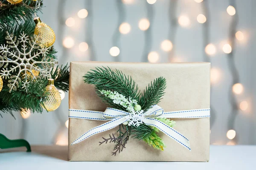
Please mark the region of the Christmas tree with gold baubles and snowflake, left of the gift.
<svg viewBox="0 0 256 170"><path fill-rule="evenodd" d="M55 103L49 103L53 96L46 88L48 79L59 90L68 90L68 66L55 65L55 33L37 16L42 5L42 0L0 0L1 117L12 111L58 108L49 110ZM55 97L60 99L59 94Z"/></svg>

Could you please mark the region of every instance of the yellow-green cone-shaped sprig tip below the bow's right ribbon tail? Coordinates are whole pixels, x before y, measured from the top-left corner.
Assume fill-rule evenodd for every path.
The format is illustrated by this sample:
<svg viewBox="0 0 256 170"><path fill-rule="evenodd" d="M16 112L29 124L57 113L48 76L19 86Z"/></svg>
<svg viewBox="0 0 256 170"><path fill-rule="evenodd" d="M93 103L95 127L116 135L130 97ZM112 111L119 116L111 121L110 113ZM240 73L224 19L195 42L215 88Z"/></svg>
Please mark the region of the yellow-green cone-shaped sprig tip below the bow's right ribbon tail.
<svg viewBox="0 0 256 170"><path fill-rule="evenodd" d="M157 135L155 131L153 131L150 136L143 139L144 142L149 144L149 146L153 146L155 149L163 150L166 145L163 143L163 140Z"/></svg>

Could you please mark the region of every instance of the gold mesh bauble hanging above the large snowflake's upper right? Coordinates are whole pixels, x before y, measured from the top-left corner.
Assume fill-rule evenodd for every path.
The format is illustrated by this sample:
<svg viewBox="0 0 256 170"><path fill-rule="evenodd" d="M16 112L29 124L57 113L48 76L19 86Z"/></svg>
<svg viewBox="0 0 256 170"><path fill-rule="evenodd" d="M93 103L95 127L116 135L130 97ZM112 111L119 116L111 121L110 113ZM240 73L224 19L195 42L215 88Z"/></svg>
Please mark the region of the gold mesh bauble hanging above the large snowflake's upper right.
<svg viewBox="0 0 256 170"><path fill-rule="evenodd" d="M37 36L37 43L42 48L47 48L53 45L55 42L55 33L51 27L42 23L39 17L34 18L35 31L34 34Z"/></svg>

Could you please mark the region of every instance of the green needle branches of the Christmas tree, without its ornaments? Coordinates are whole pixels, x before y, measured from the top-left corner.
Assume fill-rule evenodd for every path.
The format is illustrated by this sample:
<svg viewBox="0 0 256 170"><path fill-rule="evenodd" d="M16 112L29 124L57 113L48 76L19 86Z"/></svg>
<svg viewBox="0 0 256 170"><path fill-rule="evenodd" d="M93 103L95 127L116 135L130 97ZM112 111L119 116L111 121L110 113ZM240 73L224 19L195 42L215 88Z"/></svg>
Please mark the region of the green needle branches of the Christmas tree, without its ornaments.
<svg viewBox="0 0 256 170"><path fill-rule="evenodd" d="M11 4L7 0L0 0L0 45L7 45L6 32L13 34L15 37L19 37L21 33L25 33L29 37L34 36L35 23L34 23L34 11L36 2L33 0L23 0L18 4ZM43 3L41 0L40 8L36 9L36 12L41 11ZM17 47L21 50L21 45ZM32 53L37 49L32 49ZM8 56L7 56L8 57ZM41 61L43 56L35 58L37 61ZM47 57L50 59L56 59L56 51L52 47L49 49ZM0 66L0 70L5 65ZM13 65L9 64L7 68L11 68ZM38 68L43 68L42 65L37 65ZM50 71L52 79L55 80L55 87L68 91L69 84L69 71L68 66L57 66ZM17 71L13 71L12 74L17 74ZM11 111L21 111L21 109L30 109L32 112L43 111L43 99L46 98L45 86L47 85L47 79L37 78L36 81L31 80L31 84L27 88L21 88L21 84L18 85L17 91L9 92L7 86L9 79L3 79L3 89L0 91L0 111L4 113L11 113ZM2 116L2 115L0 115Z"/></svg>

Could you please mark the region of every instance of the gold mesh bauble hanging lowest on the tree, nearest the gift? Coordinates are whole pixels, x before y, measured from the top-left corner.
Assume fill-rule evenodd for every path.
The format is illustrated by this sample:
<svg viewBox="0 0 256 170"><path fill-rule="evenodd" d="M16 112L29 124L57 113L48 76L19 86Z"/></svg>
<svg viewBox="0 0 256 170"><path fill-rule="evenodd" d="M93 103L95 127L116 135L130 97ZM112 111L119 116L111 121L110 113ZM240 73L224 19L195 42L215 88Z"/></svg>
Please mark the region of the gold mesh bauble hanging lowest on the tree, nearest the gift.
<svg viewBox="0 0 256 170"><path fill-rule="evenodd" d="M48 79L46 92L48 96L43 101L43 108L45 107L47 111L55 111L61 105L61 95L57 88L55 88L53 79Z"/></svg>

